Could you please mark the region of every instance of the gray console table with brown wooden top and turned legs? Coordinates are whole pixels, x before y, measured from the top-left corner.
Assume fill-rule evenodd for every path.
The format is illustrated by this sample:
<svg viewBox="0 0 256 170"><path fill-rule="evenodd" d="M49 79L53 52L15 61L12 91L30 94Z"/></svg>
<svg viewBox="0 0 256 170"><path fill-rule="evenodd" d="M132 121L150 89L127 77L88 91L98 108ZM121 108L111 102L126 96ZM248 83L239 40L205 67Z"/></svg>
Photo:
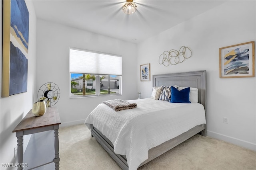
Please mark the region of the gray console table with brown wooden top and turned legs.
<svg viewBox="0 0 256 170"><path fill-rule="evenodd" d="M16 133L17 137L17 162L19 165L22 165L23 163L23 136L29 135L33 133L39 133L44 131L50 131L54 130L54 150L55 150L55 156L54 158L47 163L35 166L35 167L29 167L30 169L38 168L40 166L44 166L46 164L50 164L52 162L55 163L55 170L59 170L60 165L60 156L59 156L59 135L58 135L58 129L60 125L60 116L58 113L57 107L47 107L46 113L42 116L34 116L32 113L32 109L28 112L28 114L20 121L20 123L15 127L15 129L12 131L13 133ZM47 141L45 141L47 142ZM29 165L28 165L29 166ZM18 167L18 170L23 170L24 167Z"/></svg>

